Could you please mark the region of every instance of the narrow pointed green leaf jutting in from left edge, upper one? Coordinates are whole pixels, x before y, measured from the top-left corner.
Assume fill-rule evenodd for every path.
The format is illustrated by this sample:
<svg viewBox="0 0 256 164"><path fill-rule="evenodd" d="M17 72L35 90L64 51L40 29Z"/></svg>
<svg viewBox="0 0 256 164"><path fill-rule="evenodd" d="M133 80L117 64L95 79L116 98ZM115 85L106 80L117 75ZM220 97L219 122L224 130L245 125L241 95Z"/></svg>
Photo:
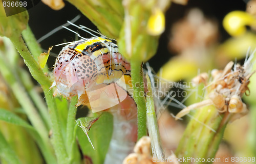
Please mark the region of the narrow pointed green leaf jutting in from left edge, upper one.
<svg viewBox="0 0 256 164"><path fill-rule="evenodd" d="M12 123L15 125L23 126L26 128L34 129L31 125L29 125L26 121L23 119L19 118L17 115L14 113L4 110L0 108L0 120L6 121L8 123Z"/></svg>

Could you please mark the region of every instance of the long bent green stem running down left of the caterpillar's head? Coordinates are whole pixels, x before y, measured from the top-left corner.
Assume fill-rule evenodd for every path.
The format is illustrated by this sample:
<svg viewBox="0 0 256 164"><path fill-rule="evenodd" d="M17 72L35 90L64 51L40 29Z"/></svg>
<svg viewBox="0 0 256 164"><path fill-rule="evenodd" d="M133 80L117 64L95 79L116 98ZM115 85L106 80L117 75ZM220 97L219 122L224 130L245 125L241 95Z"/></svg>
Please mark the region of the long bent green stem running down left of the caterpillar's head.
<svg viewBox="0 0 256 164"><path fill-rule="evenodd" d="M38 81L41 85L46 102L49 108L49 114L53 130L53 141L54 150L59 163L66 163L68 159L68 154L65 148L65 143L63 136L61 135L60 122L57 113L57 107L55 100L52 98L53 91L49 90L51 86L50 79L44 74L40 66L37 64L31 53L29 52L26 44L24 43L22 36L13 36L10 38L20 56L23 57L25 64L28 66L31 75Z"/></svg>

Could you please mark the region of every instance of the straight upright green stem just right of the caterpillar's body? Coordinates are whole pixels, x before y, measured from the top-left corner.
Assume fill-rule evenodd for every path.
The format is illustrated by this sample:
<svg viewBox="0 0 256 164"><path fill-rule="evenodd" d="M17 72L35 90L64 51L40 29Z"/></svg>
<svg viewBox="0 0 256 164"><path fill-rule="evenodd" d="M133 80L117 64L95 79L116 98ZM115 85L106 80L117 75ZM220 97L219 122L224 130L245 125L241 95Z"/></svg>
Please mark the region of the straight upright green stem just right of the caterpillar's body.
<svg viewBox="0 0 256 164"><path fill-rule="evenodd" d="M133 98L138 107L138 140L147 135L146 101L144 97L144 83L141 62L131 61L131 75L133 84Z"/></svg>

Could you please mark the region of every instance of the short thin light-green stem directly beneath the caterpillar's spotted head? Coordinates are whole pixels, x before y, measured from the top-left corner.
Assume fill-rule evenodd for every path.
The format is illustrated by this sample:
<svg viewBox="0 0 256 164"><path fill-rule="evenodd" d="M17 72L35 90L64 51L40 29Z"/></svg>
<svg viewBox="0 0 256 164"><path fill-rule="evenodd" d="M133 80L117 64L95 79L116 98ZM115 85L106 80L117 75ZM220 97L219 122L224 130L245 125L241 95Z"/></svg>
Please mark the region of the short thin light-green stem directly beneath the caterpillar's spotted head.
<svg viewBox="0 0 256 164"><path fill-rule="evenodd" d="M66 131L66 149L69 154L69 160L70 162L73 160L73 153L72 153L72 147L74 144L75 136L74 136L74 129L76 125L76 111L77 111L77 104L78 98L77 96L74 96L71 98L70 105L69 105L69 113L68 113L68 120L67 120L67 131Z"/></svg>

